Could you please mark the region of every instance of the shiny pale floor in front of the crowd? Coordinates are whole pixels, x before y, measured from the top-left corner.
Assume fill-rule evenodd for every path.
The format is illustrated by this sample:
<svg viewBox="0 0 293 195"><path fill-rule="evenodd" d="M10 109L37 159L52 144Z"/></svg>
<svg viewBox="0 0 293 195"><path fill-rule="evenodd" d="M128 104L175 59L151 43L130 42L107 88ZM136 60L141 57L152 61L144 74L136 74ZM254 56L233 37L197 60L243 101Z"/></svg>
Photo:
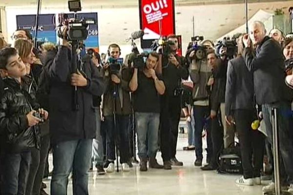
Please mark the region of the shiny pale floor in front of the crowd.
<svg viewBox="0 0 293 195"><path fill-rule="evenodd" d="M205 141L204 141L205 142ZM183 167L172 170L154 170L139 172L134 165L128 173L112 173L96 176L89 174L90 195L262 195L261 186L236 186L234 181L239 176L219 175L214 171L203 172L194 167L194 151L183 151L187 145L186 135L178 139L177 158L184 162ZM161 154L157 159L160 163ZM204 160L205 162L205 160ZM50 164L52 156L50 156ZM50 180L45 180L49 193ZM68 195L72 195L72 182L69 181Z"/></svg>

